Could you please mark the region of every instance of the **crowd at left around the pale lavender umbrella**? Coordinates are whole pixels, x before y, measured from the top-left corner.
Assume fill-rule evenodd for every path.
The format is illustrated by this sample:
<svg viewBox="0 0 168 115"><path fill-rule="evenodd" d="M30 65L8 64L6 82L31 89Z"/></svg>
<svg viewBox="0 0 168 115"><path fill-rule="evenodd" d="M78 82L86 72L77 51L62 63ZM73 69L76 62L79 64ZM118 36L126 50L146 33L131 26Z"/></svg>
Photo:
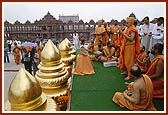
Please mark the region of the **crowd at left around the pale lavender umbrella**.
<svg viewBox="0 0 168 115"><path fill-rule="evenodd" d="M4 63L6 59L10 63L8 54L14 56L16 65L24 64L25 69L35 75L38 70L38 64L41 62L41 52L44 47L43 42L28 42L18 40L7 40L7 46L4 45Z"/></svg>

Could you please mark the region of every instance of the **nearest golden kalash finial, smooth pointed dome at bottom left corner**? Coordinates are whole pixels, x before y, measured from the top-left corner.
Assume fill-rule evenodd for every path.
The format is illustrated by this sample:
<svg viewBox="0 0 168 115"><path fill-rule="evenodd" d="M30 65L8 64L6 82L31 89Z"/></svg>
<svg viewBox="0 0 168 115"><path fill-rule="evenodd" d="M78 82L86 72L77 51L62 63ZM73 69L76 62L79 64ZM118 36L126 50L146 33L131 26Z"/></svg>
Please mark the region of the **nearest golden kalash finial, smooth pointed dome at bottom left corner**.
<svg viewBox="0 0 168 115"><path fill-rule="evenodd" d="M29 72L21 68L10 84L5 111L50 110L56 111L55 101L42 92L39 82Z"/></svg>

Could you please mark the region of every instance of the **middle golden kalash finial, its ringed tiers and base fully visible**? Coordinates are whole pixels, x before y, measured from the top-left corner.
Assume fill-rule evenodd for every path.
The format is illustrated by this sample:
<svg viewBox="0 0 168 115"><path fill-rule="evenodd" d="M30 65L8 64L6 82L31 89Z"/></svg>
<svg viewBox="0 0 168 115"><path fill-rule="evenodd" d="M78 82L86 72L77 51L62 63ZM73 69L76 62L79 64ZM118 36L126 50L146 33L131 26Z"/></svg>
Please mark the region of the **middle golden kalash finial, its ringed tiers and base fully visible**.
<svg viewBox="0 0 168 115"><path fill-rule="evenodd" d="M44 93L52 98L67 95L70 73L64 68L59 50L51 40L48 40L41 53L38 68L35 77Z"/></svg>

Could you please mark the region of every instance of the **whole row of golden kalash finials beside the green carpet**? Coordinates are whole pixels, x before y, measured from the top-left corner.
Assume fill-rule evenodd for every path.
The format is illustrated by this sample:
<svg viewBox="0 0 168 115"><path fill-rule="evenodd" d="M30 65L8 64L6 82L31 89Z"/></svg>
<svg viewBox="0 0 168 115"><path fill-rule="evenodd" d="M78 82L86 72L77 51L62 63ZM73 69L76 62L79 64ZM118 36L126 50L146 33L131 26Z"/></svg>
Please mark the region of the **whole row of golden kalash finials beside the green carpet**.
<svg viewBox="0 0 168 115"><path fill-rule="evenodd" d="M36 75L21 68L12 80L5 111L68 111L75 53L67 38L59 50L48 40Z"/></svg>

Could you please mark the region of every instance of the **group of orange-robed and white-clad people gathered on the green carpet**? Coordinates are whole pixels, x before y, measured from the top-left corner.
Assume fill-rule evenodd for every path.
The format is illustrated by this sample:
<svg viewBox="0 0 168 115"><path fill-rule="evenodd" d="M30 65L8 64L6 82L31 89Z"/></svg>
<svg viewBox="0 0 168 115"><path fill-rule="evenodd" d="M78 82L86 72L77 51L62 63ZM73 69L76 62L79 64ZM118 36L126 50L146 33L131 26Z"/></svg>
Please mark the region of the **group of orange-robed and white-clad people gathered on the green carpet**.
<svg viewBox="0 0 168 115"><path fill-rule="evenodd" d="M111 27L102 20L97 23L95 40L87 49L81 45L73 73L94 74L92 61L117 61L117 67L125 70L121 73L127 76L125 80L135 81L126 82L131 88L116 92L112 101L130 110L156 110L152 98L164 98L164 18L149 23L145 17L138 26L133 17L127 17L122 26L117 20Z"/></svg>

